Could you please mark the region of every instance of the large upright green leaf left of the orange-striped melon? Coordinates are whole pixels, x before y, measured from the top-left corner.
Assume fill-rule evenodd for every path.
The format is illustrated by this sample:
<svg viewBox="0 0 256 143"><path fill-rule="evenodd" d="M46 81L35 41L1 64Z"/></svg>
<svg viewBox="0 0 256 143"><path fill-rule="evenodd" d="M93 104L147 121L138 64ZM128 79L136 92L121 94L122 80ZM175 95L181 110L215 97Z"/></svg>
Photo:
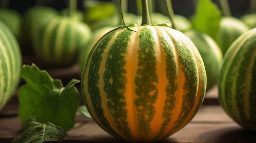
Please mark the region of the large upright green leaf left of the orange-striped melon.
<svg viewBox="0 0 256 143"><path fill-rule="evenodd" d="M79 80L72 79L63 87L61 80L53 79L35 64L23 65L20 77L27 83L18 90L22 123L34 116L40 123L49 121L66 131L74 126L74 116L81 101L74 84L79 83Z"/></svg>

